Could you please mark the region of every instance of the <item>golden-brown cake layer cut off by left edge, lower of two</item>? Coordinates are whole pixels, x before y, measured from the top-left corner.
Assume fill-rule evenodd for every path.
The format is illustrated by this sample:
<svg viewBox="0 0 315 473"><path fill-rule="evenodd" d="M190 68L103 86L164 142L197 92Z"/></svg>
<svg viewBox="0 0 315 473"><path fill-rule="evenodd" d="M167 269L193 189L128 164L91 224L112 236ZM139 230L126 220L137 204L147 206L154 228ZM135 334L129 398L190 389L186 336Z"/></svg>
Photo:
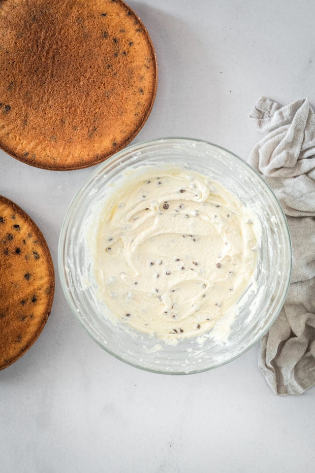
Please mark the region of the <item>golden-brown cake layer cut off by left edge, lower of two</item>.
<svg viewBox="0 0 315 473"><path fill-rule="evenodd" d="M53 262L42 233L18 205L0 196L0 370L39 336L54 289Z"/></svg>

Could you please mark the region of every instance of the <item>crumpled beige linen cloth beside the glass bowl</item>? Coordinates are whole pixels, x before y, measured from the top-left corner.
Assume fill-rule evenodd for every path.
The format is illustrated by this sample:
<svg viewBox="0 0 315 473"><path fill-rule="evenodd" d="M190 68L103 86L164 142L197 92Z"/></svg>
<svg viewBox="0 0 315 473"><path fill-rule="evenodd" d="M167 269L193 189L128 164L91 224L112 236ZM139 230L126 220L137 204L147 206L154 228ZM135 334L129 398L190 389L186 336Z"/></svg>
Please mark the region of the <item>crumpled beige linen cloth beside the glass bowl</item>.
<svg viewBox="0 0 315 473"><path fill-rule="evenodd" d="M249 163L280 200L293 246L289 292L258 366L276 394L301 394L315 386L315 114L307 99L281 107L260 97L250 119L266 136Z"/></svg>

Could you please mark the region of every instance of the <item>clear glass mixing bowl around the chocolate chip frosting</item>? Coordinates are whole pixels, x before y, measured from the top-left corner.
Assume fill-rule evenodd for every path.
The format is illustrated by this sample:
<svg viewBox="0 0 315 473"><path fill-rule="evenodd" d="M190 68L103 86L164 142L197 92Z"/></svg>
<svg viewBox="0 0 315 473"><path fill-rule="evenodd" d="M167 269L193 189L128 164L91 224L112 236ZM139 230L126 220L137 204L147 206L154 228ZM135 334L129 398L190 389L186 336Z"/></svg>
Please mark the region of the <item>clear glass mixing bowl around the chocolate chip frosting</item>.
<svg viewBox="0 0 315 473"><path fill-rule="evenodd" d="M261 223L255 272L256 292L238 303L225 340L184 338L175 346L111 322L97 300L93 258L86 236L91 213L112 192L122 173L163 163L196 170L220 182L254 210ZM130 183L131 184L131 183ZM91 230L91 229L90 229ZM187 374L221 366L248 350L269 329L286 297L292 249L283 210L266 182L245 161L218 145L189 138L162 138L129 146L107 159L83 184L64 218L58 265L63 291L85 330L107 352L151 372ZM109 309L107 309L109 310Z"/></svg>

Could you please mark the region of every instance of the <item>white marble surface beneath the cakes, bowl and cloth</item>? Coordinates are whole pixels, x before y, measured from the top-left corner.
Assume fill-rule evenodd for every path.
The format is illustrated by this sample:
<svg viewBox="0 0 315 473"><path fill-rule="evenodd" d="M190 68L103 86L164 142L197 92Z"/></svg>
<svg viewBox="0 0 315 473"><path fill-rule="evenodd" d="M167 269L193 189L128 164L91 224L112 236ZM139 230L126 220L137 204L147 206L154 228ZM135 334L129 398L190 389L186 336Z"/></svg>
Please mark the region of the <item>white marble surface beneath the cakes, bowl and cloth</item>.
<svg viewBox="0 0 315 473"><path fill-rule="evenodd" d="M134 142L182 135L246 158L260 95L315 105L312 0L130 1L152 36L157 99ZM258 346L220 369L164 376L125 365L83 331L63 297L57 244L92 169L33 169L0 152L0 194L42 229L54 258L51 316L0 372L1 473L315 471L315 389L276 397Z"/></svg>

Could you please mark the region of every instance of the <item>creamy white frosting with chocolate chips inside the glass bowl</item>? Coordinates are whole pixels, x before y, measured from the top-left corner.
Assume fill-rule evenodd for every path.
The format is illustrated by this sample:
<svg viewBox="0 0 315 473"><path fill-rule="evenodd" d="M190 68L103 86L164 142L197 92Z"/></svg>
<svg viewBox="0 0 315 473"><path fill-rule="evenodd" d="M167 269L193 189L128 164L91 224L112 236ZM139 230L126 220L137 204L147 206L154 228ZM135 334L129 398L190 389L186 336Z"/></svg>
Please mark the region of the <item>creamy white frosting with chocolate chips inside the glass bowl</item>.
<svg viewBox="0 0 315 473"><path fill-rule="evenodd" d="M137 331L169 340L204 334L253 282L260 223L198 172L138 168L95 218L97 297Z"/></svg>

